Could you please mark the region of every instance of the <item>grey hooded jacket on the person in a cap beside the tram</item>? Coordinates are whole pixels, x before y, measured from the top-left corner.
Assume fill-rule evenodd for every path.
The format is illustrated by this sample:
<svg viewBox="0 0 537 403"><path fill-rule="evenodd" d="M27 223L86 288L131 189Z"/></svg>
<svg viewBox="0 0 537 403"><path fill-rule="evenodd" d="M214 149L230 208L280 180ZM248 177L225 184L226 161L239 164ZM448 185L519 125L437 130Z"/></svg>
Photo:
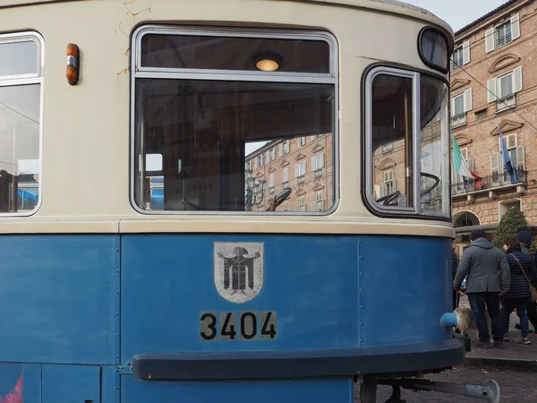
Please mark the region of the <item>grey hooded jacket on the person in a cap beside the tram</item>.
<svg viewBox="0 0 537 403"><path fill-rule="evenodd" d="M466 293L505 294L511 284L511 270L505 253L485 238L478 238L465 249L456 269L453 287L459 289L466 278Z"/></svg>

